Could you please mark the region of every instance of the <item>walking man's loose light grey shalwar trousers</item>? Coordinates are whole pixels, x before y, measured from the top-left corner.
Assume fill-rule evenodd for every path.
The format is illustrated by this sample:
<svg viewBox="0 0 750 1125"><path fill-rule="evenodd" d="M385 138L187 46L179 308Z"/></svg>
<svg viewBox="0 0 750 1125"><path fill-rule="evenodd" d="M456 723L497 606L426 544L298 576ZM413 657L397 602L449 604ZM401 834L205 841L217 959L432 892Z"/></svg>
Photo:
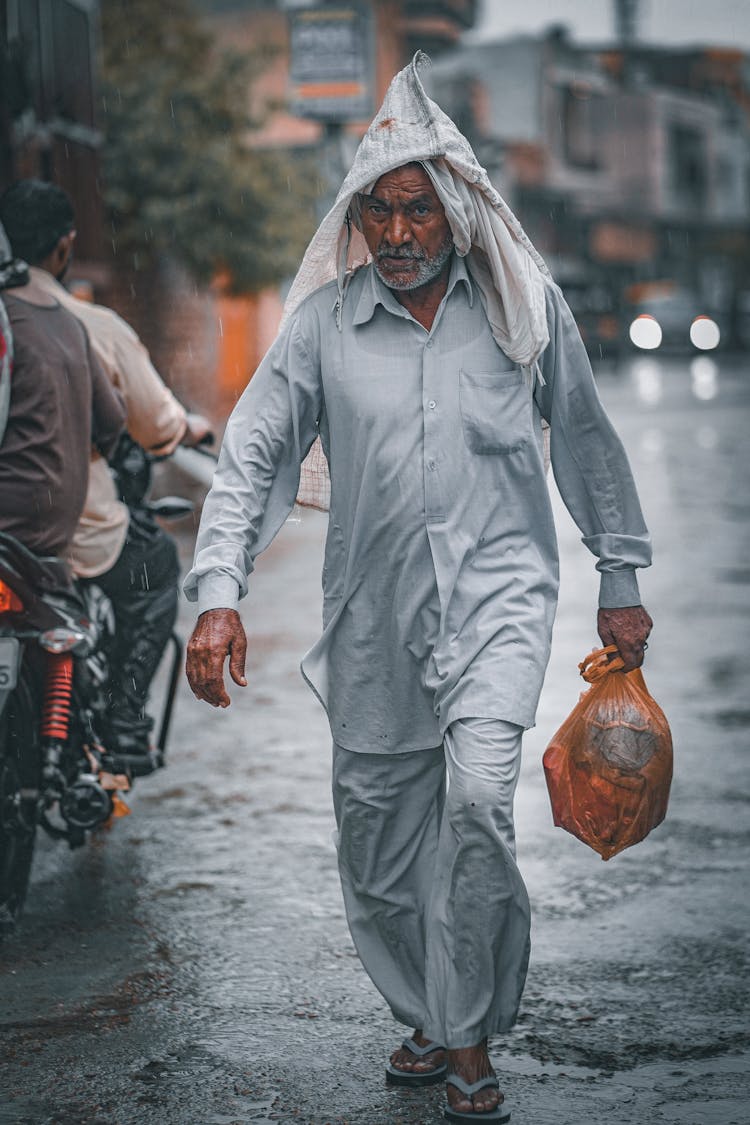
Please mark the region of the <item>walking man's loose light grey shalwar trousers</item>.
<svg viewBox="0 0 750 1125"><path fill-rule="evenodd" d="M522 734L462 719L436 749L334 744L338 870L358 954L396 1019L451 1048L507 1030L526 978L530 907L513 828Z"/></svg>

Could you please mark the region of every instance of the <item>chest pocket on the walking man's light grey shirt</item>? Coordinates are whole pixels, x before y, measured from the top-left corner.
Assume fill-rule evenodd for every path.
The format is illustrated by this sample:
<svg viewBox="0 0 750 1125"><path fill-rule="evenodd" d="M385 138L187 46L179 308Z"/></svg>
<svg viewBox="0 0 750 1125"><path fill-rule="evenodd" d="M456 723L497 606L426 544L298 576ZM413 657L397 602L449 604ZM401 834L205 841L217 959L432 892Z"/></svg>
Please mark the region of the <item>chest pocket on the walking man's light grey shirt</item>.
<svg viewBox="0 0 750 1125"><path fill-rule="evenodd" d="M460 371L459 399L463 439L472 453L513 453L531 438L531 395L523 371Z"/></svg>

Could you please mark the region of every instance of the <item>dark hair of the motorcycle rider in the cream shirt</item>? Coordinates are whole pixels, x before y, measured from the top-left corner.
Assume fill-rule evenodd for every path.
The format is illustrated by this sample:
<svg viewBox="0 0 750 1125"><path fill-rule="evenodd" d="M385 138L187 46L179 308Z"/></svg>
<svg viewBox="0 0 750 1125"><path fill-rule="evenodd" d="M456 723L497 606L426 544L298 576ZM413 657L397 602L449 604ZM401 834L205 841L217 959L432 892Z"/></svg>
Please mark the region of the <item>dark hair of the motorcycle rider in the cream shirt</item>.
<svg viewBox="0 0 750 1125"><path fill-rule="evenodd" d="M0 223L13 254L38 266L75 226L67 192L45 180L18 180L0 197Z"/></svg>

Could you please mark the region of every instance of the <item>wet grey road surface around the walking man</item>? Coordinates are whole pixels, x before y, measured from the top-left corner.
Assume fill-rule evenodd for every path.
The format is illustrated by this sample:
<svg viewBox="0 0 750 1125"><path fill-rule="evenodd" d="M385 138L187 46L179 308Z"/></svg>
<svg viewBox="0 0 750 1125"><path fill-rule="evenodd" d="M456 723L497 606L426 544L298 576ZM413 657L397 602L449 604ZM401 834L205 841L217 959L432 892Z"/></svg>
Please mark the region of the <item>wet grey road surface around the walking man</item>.
<svg viewBox="0 0 750 1125"><path fill-rule="evenodd" d="M750 1123L749 367L643 358L600 378L653 533L644 670L676 747L666 824L607 864L552 827L541 766L596 642L593 561L557 504L562 596L517 798L534 947L493 1048L516 1125ZM385 1087L399 1033L340 901L328 734L297 670L323 534L306 513L261 560L232 709L183 686L133 816L74 854L40 840L0 948L2 1125L442 1119L440 1088Z"/></svg>

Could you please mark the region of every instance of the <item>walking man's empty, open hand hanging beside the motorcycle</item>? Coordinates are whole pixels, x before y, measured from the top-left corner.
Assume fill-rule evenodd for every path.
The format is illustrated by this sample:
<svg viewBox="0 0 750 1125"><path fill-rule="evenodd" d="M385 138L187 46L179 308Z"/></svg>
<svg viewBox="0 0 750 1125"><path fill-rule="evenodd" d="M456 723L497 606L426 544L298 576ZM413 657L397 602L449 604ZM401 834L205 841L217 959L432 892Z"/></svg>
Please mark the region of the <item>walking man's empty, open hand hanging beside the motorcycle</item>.
<svg viewBox="0 0 750 1125"><path fill-rule="evenodd" d="M211 706L228 706L224 686L224 662L229 657L229 675L246 687L247 638L236 610L207 610L196 622L188 641L186 672L193 695Z"/></svg>

